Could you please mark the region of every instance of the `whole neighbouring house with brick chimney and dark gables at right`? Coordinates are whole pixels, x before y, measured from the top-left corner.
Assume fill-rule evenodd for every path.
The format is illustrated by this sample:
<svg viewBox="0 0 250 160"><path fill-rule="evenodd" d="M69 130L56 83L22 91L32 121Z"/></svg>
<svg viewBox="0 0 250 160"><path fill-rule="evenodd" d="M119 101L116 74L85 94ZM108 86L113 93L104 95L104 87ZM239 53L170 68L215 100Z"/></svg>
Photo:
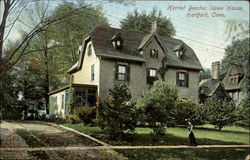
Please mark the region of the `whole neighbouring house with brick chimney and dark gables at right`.
<svg viewBox="0 0 250 160"><path fill-rule="evenodd" d="M201 103L213 95L223 100L232 99L236 104L240 104L241 100L247 97L247 63L232 63L221 79L220 62L213 62L211 74L212 78L201 80L199 83Z"/></svg>

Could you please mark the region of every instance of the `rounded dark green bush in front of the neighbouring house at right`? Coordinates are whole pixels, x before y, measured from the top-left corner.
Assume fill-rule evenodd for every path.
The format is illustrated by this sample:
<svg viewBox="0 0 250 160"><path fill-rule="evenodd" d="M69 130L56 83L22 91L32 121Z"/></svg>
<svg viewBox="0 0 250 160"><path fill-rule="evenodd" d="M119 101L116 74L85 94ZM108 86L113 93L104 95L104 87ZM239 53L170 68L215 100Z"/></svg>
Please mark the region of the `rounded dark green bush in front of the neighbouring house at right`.
<svg viewBox="0 0 250 160"><path fill-rule="evenodd" d="M219 100L215 96L209 97L202 107L202 114L206 117L207 123L215 125L221 130L223 127L235 122L235 103L233 101Z"/></svg>

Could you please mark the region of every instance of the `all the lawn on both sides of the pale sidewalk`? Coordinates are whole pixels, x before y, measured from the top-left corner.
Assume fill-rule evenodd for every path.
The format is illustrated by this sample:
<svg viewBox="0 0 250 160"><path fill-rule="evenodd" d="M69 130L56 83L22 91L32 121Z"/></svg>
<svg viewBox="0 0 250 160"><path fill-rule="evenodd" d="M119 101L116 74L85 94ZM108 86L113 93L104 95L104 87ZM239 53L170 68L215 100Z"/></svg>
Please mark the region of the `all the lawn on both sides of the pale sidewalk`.
<svg viewBox="0 0 250 160"><path fill-rule="evenodd" d="M123 141L111 141L99 127L83 124L64 124L80 132L89 134L111 145L186 145L187 129L167 128L167 134L158 141L150 135L150 128L136 128L135 133ZM199 145L205 144L249 144L249 130L241 127L227 127L222 131L211 125L198 126L194 129ZM129 160L242 160L249 153L249 148L185 148L185 149L117 149Z"/></svg>

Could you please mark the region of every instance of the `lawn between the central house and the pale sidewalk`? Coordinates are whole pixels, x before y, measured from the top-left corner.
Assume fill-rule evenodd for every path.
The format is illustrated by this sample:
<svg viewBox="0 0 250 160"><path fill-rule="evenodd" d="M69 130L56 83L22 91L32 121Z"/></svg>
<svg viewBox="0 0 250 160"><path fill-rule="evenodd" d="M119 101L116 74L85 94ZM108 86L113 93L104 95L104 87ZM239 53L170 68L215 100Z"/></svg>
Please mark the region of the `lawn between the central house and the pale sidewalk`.
<svg viewBox="0 0 250 160"><path fill-rule="evenodd" d="M161 136L158 141L151 136L152 129L136 128L135 134L127 135L123 141L110 141L107 135L99 127L84 126L83 124L65 124L80 132L94 136L111 145L186 145L188 133L186 128L167 128L167 134ZM201 127L201 126L199 126ZM249 132L241 127L227 127L218 131L210 126L194 129L194 134L199 145L223 145L223 144L249 144Z"/></svg>

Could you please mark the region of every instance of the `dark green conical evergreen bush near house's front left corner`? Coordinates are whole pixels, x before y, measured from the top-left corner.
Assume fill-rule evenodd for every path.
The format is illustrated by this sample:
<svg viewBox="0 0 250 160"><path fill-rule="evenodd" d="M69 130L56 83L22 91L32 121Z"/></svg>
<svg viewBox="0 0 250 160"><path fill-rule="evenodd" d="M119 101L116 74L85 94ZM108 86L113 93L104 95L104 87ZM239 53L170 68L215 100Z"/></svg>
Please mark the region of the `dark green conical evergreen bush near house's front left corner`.
<svg viewBox="0 0 250 160"><path fill-rule="evenodd" d="M136 125L136 108L125 83L115 83L109 90L110 99L99 109L100 126L113 140L121 139L125 131L133 131Z"/></svg>

